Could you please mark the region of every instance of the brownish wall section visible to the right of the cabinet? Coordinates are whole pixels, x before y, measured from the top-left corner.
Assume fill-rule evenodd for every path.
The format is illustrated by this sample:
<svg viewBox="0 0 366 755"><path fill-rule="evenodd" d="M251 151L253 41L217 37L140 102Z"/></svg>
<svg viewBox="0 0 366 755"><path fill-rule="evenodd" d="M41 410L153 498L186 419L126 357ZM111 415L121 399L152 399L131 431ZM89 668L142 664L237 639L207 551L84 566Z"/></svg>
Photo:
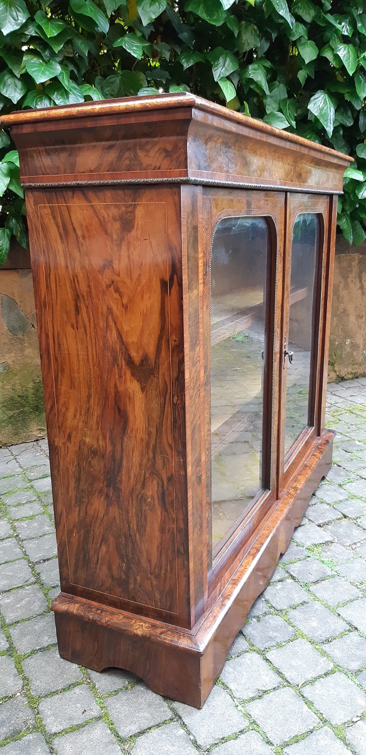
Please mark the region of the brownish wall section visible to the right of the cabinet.
<svg viewBox="0 0 366 755"><path fill-rule="evenodd" d="M366 376L366 243L337 237L328 382Z"/></svg>

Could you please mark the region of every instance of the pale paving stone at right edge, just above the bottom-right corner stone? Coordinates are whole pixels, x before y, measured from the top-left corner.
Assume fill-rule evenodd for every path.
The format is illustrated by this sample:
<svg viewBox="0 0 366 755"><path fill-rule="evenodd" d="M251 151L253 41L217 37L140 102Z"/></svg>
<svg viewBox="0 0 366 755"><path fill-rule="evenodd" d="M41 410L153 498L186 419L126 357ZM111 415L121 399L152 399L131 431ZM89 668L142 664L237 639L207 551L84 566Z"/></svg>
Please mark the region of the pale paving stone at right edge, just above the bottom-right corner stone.
<svg viewBox="0 0 366 755"><path fill-rule="evenodd" d="M333 726L366 710L366 695L340 671L303 687L301 692Z"/></svg>

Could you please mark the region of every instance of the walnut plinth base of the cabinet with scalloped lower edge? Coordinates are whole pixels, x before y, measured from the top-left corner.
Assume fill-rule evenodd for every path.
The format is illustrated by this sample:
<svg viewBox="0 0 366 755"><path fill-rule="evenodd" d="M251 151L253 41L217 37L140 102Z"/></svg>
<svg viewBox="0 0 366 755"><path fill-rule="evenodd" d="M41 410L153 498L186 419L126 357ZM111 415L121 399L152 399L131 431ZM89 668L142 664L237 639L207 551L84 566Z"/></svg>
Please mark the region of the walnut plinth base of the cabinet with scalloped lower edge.
<svg viewBox="0 0 366 755"><path fill-rule="evenodd" d="M123 668L160 695L202 707L221 673L227 650L331 467L333 437L327 431L314 443L310 457L277 501L230 582L192 630L60 593L52 609L61 658L97 671Z"/></svg>

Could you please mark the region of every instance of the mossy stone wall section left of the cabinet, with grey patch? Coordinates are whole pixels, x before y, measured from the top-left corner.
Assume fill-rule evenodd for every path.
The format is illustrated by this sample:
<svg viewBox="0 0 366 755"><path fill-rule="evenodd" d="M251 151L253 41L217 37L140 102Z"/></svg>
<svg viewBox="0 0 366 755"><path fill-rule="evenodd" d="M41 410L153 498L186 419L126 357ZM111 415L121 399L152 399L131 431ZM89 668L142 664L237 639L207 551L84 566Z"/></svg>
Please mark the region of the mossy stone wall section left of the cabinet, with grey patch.
<svg viewBox="0 0 366 755"><path fill-rule="evenodd" d="M29 255L0 268L0 446L44 438L46 423Z"/></svg>

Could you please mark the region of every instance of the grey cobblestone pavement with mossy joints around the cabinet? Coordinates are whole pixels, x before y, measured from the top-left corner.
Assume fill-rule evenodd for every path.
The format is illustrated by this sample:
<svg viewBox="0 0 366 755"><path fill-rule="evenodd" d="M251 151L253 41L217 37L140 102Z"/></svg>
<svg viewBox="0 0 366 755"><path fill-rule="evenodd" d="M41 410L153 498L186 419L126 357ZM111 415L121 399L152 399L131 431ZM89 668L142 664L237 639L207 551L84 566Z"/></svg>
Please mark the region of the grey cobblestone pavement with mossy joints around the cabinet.
<svg viewBox="0 0 366 755"><path fill-rule="evenodd" d="M59 658L47 442L0 450L0 755L366 755L366 378L329 386L334 465L203 710Z"/></svg>

